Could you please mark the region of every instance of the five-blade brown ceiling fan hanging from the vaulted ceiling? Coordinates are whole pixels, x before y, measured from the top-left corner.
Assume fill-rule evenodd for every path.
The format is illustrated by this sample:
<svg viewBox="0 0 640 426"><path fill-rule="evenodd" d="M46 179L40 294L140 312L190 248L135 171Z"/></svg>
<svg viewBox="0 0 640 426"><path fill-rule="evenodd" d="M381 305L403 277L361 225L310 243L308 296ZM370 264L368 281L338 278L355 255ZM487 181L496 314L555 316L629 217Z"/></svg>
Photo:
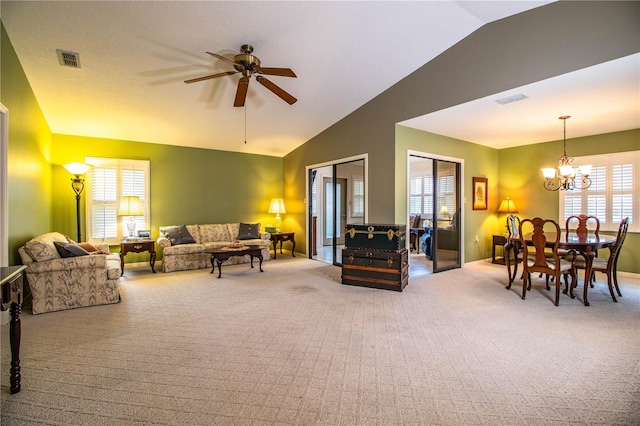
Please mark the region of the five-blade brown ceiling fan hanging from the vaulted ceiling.
<svg viewBox="0 0 640 426"><path fill-rule="evenodd" d="M281 77L297 77L296 74L290 68L266 68L260 66L260 59L257 56L253 56L253 47L249 44L244 44L240 47L239 54L233 57L233 60L225 58L217 53L207 52L211 56L215 56L228 64L233 65L235 71L225 71L217 74L207 75L204 77L193 78L191 80L185 80L185 83L195 83L198 81L209 80L212 78L224 77L227 75L233 75L242 73L240 81L238 81L238 89L236 90L236 99L233 103L234 107L244 106L245 99L247 98L247 90L249 89L249 79L252 75L256 75L258 83L262 84L267 89L278 95L282 100L289 105L294 104L297 99L287 93L284 89L277 86L272 81L268 80L263 75L277 75Z"/></svg>

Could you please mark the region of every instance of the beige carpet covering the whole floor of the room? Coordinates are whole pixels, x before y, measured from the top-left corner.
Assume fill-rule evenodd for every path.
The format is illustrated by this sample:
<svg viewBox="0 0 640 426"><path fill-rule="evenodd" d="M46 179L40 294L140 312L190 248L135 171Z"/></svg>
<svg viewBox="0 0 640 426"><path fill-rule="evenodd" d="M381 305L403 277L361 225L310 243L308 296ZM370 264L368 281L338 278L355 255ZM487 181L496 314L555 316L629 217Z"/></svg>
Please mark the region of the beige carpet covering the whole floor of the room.
<svg viewBox="0 0 640 426"><path fill-rule="evenodd" d="M22 391L3 425L632 425L640 422L640 283L590 307L477 262L402 293L340 284L279 256L151 274L117 305L22 318ZM580 293L580 292L578 292ZM581 294L581 293L580 293Z"/></svg>

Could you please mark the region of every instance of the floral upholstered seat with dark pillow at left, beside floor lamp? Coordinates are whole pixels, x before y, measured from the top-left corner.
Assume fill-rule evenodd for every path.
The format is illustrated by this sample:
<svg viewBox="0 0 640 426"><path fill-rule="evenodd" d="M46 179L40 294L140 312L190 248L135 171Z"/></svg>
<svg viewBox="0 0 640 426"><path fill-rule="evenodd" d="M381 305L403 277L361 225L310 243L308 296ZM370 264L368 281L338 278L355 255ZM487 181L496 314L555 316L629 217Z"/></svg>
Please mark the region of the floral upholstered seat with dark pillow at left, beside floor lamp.
<svg viewBox="0 0 640 426"><path fill-rule="evenodd" d="M27 267L34 314L120 301L120 257L106 244L76 244L50 232L27 241L18 253Z"/></svg>

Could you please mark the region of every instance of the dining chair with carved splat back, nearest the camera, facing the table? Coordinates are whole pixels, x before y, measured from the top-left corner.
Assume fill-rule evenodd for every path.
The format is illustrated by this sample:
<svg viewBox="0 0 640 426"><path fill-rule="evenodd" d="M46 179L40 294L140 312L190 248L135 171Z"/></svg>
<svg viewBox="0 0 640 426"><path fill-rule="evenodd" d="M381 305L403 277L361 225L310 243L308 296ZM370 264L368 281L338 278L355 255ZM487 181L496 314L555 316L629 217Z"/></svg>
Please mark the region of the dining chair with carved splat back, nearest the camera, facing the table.
<svg viewBox="0 0 640 426"><path fill-rule="evenodd" d="M523 219L518 229L523 250L522 299L531 290L531 273L538 272L553 276L556 284L554 305L560 299L560 277L571 277L571 286L576 284L576 273L571 262L561 259L558 254L560 243L560 226L553 219ZM547 281L547 289L549 289Z"/></svg>

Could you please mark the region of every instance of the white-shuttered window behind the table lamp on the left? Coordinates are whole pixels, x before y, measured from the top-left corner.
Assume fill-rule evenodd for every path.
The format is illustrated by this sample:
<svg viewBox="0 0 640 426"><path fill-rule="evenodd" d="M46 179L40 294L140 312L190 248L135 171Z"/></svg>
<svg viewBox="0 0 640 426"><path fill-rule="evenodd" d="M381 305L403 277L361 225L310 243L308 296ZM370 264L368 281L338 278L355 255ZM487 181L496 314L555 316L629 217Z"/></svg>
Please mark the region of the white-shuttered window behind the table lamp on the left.
<svg viewBox="0 0 640 426"><path fill-rule="evenodd" d="M135 216L136 230L149 229L149 161L115 158L85 159L91 164L87 188L87 233L89 241L119 243L128 235L129 217L118 217L123 196L137 195L143 216Z"/></svg>

